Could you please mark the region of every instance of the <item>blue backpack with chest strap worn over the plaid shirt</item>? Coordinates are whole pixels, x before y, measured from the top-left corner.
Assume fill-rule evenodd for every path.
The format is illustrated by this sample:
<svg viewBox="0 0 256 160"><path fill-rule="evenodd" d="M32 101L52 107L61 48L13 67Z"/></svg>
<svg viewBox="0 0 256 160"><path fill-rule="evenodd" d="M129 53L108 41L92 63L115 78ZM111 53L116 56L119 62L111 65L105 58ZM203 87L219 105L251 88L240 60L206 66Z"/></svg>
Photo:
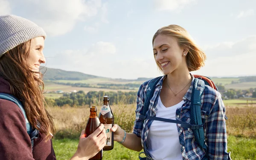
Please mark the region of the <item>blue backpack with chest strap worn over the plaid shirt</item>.
<svg viewBox="0 0 256 160"><path fill-rule="evenodd" d="M190 118L191 118L190 123L191 124L189 124L187 122L182 122L182 121L178 121L178 120L174 120L174 119L165 119L165 118L160 118L160 117L156 117L156 116L146 115L146 113L148 111L149 104L150 104L150 99L153 97L153 94L154 94L155 87L162 77L163 76L157 77L155 79L152 79L149 82L148 88L150 88L150 90L147 90L147 92L146 92L145 105L143 108L143 114L140 115L140 119L143 119L143 120L152 119L152 120L158 120L158 121L163 121L163 122L177 123L177 124L180 124L181 127L183 127L183 128L191 128L194 133L196 142L202 148L204 148L204 151L206 151L207 158L205 158L204 160L209 160L208 154L207 154L208 148L204 142L204 139L205 139L204 128L203 128L203 122L201 119L201 96L202 96L202 93L204 92L205 84L212 87L211 84L209 84L209 80L212 83L213 83L213 81L211 79L209 79L208 77L207 77L207 80L205 80L204 76L202 76L203 78L198 77L198 78L194 79L193 89L192 89L192 97L191 97L191 106L190 106L190 114L191 114L190 115ZM218 90L218 88L216 87L215 84L212 88L214 88L215 90ZM226 115L225 115L225 119L227 119ZM140 154L142 154L142 153L145 154L145 152L141 152ZM139 155L139 158L140 158L140 160L146 160L146 157L140 157L140 155Z"/></svg>

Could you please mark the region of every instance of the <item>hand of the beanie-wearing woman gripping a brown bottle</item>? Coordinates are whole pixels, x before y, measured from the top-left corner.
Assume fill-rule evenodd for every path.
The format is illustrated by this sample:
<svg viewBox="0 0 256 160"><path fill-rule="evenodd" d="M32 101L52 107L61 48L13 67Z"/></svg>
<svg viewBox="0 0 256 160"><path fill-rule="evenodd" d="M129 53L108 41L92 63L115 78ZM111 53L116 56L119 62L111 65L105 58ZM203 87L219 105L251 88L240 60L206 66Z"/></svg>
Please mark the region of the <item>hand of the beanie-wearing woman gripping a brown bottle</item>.
<svg viewBox="0 0 256 160"><path fill-rule="evenodd" d="M76 153L70 160L88 160L95 156L106 145L106 130L101 124L92 134L85 137L85 131L81 132Z"/></svg>

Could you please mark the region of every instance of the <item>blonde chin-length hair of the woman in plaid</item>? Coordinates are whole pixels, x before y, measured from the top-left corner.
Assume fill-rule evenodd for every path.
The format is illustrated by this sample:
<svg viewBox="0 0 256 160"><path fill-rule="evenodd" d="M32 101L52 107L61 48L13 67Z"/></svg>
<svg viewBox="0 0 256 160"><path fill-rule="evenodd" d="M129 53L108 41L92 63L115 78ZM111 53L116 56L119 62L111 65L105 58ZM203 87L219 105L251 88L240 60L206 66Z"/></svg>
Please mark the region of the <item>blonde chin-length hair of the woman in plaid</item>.
<svg viewBox="0 0 256 160"><path fill-rule="evenodd" d="M178 25L164 26L158 29L154 34L152 44L154 44L154 40L157 35L172 36L177 40L180 47L188 50L188 54L186 55L186 64L189 68L189 72L199 70L204 66L206 55L204 51L195 44L186 29ZM161 65L157 63L157 66L163 72Z"/></svg>

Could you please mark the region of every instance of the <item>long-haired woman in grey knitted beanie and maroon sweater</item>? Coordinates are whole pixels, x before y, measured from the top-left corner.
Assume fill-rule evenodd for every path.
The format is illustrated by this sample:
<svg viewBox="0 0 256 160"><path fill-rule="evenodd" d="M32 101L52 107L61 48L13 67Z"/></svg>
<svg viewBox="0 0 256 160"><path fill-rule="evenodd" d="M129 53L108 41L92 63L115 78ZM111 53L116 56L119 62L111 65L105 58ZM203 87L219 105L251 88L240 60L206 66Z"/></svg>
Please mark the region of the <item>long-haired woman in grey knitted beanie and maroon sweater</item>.
<svg viewBox="0 0 256 160"><path fill-rule="evenodd" d="M44 107L44 30L15 15L0 16L0 159L55 160L55 126ZM93 134L81 132L72 160L89 159L105 146L101 125Z"/></svg>

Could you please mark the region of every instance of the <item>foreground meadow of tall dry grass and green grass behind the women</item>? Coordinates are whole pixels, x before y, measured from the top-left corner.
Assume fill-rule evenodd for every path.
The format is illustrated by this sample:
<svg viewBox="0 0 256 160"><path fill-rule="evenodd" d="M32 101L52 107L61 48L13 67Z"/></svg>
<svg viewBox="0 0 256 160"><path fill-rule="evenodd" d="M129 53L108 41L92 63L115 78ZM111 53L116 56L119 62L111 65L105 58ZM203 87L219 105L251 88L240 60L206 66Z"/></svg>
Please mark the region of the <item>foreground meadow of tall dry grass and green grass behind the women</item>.
<svg viewBox="0 0 256 160"><path fill-rule="evenodd" d="M226 114L229 118L226 121L228 151L232 153L232 160L256 160L256 106L236 107L227 104L226 106ZM115 123L131 132L135 108L136 104L111 105ZM47 110L55 117L57 133L53 139L53 146L57 159L68 160L76 151L78 137L89 116L89 106L83 108L49 107ZM128 150L119 143L115 143L112 151L104 151L103 160L138 160L138 154L137 151Z"/></svg>

